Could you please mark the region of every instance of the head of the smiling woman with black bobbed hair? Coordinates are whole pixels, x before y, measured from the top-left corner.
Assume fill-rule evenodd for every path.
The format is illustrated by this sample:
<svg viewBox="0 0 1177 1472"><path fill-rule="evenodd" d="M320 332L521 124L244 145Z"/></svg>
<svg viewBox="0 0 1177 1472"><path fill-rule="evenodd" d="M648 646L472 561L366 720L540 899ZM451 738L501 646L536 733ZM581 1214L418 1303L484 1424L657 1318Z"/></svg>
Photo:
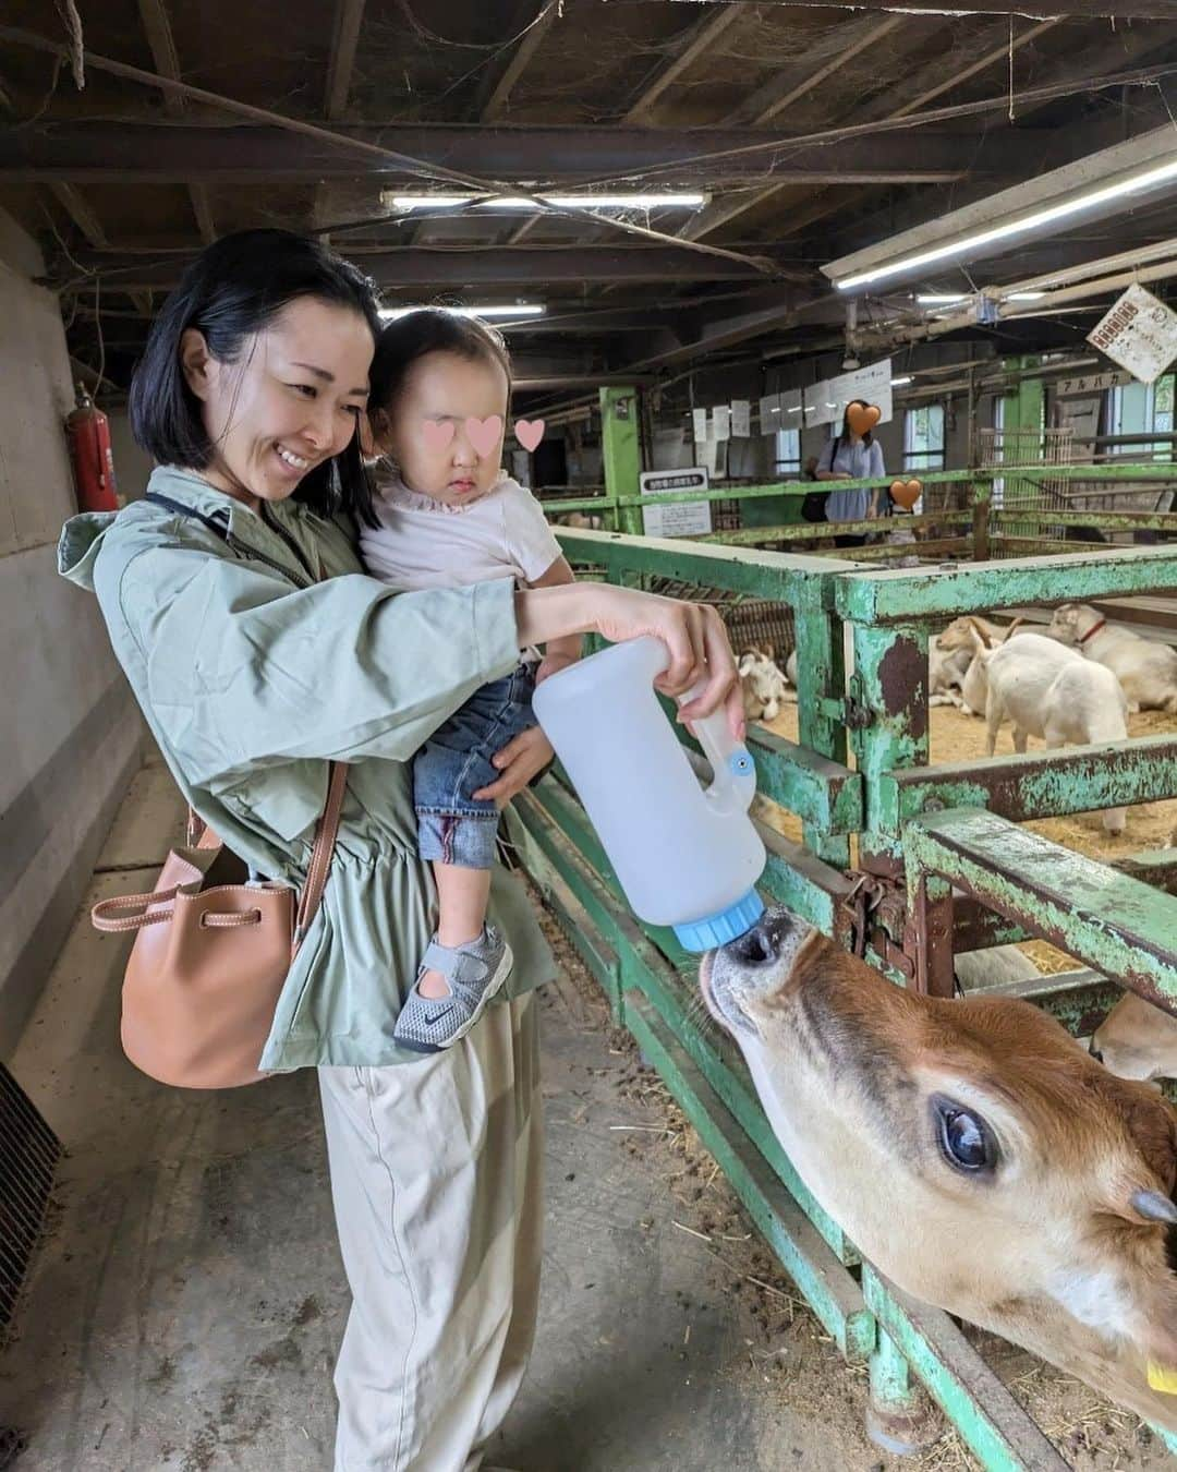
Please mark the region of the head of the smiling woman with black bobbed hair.
<svg viewBox="0 0 1177 1472"><path fill-rule="evenodd" d="M356 436L380 318L371 283L278 230L206 250L153 325L131 427L160 465L255 505L299 499L371 520ZM177 350L178 343L178 350Z"/></svg>

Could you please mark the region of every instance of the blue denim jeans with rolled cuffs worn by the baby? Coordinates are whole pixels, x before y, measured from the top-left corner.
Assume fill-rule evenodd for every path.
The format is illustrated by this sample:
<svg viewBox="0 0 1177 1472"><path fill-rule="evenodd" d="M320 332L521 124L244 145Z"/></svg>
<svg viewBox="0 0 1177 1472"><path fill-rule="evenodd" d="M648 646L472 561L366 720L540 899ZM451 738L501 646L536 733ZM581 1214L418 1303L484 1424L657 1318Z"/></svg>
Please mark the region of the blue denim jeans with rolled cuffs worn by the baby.
<svg viewBox="0 0 1177 1472"><path fill-rule="evenodd" d="M413 758L416 846L422 858L462 868L490 868L499 810L471 793L497 782L490 758L536 724L536 667L519 664L493 680L438 726Z"/></svg>

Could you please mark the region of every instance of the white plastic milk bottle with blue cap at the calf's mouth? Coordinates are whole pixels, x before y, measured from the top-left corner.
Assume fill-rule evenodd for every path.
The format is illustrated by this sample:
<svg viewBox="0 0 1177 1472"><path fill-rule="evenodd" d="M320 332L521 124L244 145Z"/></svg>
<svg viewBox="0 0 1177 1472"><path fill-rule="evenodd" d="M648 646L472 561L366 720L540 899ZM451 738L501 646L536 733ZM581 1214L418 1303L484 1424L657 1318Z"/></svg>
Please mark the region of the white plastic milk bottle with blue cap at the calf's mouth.
<svg viewBox="0 0 1177 1472"><path fill-rule="evenodd" d="M714 771L700 786L653 689L668 664L661 639L612 645L544 680L534 710L634 913L708 951L764 914L756 768L718 710L691 723Z"/></svg>

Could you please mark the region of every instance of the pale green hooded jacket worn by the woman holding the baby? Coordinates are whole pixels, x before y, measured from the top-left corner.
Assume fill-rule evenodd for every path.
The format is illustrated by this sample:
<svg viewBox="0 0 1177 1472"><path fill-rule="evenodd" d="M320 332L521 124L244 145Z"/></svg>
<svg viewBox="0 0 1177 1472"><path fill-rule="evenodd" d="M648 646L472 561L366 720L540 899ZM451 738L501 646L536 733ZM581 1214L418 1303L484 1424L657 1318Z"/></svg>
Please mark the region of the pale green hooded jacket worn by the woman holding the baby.
<svg viewBox="0 0 1177 1472"><path fill-rule="evenodd" d="M341 526L291 500L259 515L171 468L149 493L185 511L137 500L74 517L57 565L97 593L187 802L257 871L300 886L327 762L349 764L324 901L260 1066L419 1061L393 1042L435 899L408 764L518 662L512 581L393 593L363 574ZM527 895L500 867L491 916L515 952L508 991L550 980Z"/></svg>

